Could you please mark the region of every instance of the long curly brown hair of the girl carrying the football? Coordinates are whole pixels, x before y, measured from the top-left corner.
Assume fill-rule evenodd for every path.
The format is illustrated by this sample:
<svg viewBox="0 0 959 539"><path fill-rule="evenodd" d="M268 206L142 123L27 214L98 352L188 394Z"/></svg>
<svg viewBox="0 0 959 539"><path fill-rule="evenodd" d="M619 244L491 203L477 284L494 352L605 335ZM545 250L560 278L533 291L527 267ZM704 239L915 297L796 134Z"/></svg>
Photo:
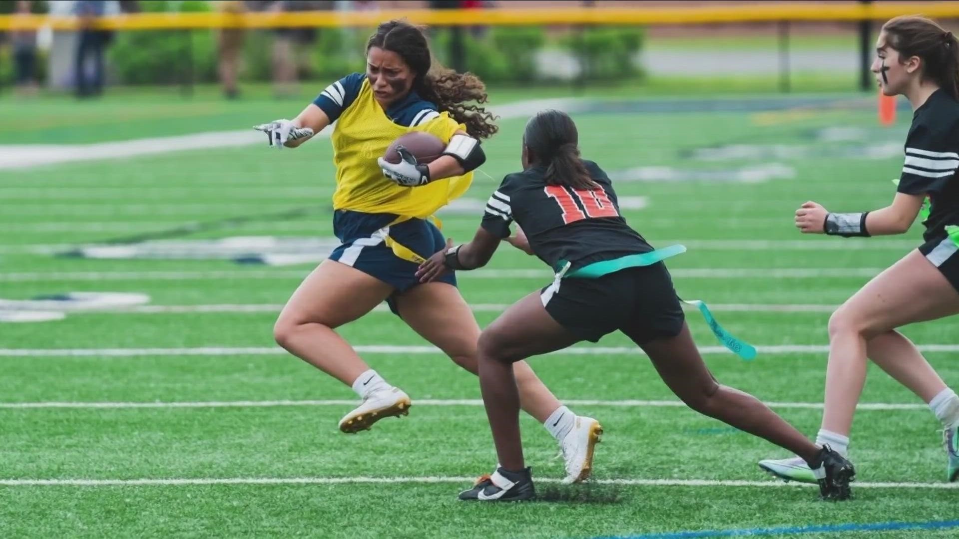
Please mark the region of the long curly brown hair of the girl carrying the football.
<svg viewBox="0 0 959 539"><path fill-rule="evenodd" d="M456 73L439 65L422 28L404 20L387 21L370 35L366 51L371 47L392 51L406 61L416 73L413 90L441 112L449 112L471 136L489 138L500 130L493 123L496 116L481 106L488 99L486 85L472 73Z"/></svg>

